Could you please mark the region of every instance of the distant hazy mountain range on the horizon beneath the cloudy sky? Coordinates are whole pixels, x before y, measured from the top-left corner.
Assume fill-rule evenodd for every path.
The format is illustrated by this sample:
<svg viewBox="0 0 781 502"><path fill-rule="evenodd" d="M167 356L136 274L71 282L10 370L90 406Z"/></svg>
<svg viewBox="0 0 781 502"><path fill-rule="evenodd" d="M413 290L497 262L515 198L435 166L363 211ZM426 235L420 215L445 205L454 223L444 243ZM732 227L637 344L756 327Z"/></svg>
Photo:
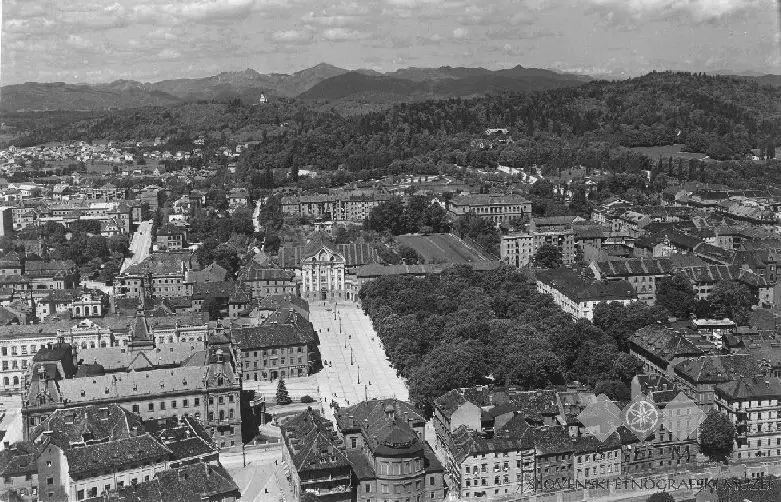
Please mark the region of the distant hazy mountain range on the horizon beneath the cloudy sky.
<svg viewBox="0 0 781 502"><path fill-rule="evenodd" d="M151 83L135 80L92 85L26 82L0 88L0 111L99 111L235 98L256 102L261 94L270 98L298 97L315 101L398 102L506 91L530 92L575 86L590 80L587 76L522 66L496 71L443 66L380 73L350 71L322 63L292 74L262 74L247 69L205 78Z"/></svg>

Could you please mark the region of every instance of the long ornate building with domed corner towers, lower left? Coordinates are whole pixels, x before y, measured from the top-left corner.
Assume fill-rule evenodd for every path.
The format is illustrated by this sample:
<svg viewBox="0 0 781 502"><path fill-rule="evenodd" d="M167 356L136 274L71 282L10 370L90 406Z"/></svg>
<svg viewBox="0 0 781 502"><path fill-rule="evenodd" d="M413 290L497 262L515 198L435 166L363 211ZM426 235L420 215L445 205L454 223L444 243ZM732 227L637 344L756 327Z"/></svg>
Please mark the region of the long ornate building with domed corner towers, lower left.
<svg viewBox="0 0 781 502"><path fill-rule="evenodd" d="M119 404L145 420L193 416L220 448L240 444L241 382L226 345L209 344L180 367L91 376L76 374L70 346L54 349L39 352L28 370L22 406L25 438L58 410Z"/></svg>

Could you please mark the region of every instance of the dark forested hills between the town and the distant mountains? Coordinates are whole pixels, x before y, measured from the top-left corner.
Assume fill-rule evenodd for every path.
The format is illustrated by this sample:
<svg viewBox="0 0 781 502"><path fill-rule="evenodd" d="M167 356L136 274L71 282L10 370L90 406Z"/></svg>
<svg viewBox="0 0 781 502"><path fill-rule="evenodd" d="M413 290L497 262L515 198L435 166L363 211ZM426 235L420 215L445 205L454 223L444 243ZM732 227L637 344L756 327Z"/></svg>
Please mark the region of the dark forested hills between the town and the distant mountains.
<svg viewBox="0 0 781 502"><path fill-rule="evenodd" d="M552 141L573 148L584 142L675 142L714 158L737 158L750 148L781 143L781 89L745 79L663 72L531 94L399 104L356 117L293 100L266 106L187 104L101 114L57 129L36 126L37 134L28 141L241 135L262 140L243 159L250 165L329 170L346 164L357 170L383 169L394 160L454 145L463 148L468 141L461 135L487 127L509 127L514 148L532 140L534 148Z"/></svg>

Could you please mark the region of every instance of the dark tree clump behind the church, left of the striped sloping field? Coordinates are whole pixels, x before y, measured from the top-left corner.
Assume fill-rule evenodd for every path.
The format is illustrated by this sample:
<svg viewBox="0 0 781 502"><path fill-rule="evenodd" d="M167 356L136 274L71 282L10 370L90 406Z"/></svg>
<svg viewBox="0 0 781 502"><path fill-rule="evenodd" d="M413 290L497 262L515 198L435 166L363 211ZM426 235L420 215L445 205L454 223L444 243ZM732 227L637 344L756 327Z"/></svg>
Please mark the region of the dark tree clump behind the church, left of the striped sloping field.
<svg viewBox="0 0 781 502"><path fill-rule="evenodd" d="M447 232L447 213L431 197L413 195L405 203L401 197L391 197L377 204L364 221L364 228L392 235Z"/></svg>

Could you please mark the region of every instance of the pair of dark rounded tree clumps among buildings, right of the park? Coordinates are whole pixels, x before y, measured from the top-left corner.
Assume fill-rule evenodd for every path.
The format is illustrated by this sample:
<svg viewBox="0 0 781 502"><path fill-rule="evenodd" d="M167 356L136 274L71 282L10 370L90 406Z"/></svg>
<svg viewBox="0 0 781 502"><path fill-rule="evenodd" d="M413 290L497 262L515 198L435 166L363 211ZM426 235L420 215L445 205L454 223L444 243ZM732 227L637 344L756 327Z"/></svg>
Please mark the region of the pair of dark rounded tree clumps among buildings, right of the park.
<svg viewBox="0 0 781 502"><path fill-rule="evenodd" d="M676 274L659 281L656 301L676 317L727 317L743 325L748 321L751 307L757 303L757 293L741 282L720 281L707 299L698 300L691 281Z"/></svg>

